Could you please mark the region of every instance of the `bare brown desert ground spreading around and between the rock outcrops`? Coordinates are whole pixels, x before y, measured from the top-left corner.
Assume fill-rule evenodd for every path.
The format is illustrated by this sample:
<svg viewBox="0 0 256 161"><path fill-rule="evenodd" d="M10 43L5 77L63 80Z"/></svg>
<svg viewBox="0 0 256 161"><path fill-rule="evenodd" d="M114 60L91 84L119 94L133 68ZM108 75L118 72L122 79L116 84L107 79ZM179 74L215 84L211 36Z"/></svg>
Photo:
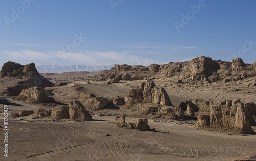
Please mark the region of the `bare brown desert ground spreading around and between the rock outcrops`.
<svg viewBox="0 0 256 161"><path fill-rule="evenodd" d="M9 112L9 154L8 158L1 155L0 160L256 160L255 134L232 131L225 126L197 127L197 116L205 112L202 110L183 119L169 119L158 112L145 112L145 107L157 106L161 109L161 105L153 102L142 102L133 106L125 102L103 109L88 105L88 101L95 101L94 98L89 98L91 94L106 100L119 96L126 101L130 91L139 89L141 84L148 82L148 78L154 80L156 86L164 88L174 107L179 107L188 99L210 102L241 99L241 104L245 104L255 102L254 76L224 83L221 80L205 82L190 78L179 81L180 76L154 75L143 76L145 79L123 78L118 83L108 83L113 78L106 78L107 71L41 75L53 83L44 89L54 102L29 102L31 100L20 96L26 94L27 89L23 89L18 97L0 97L1 103L8 106ZM22 77L23 81L24 79ZM7 86L8 81L1 81L2 90L6 90L3 86ZM11 94L11 90L6 94ZM52 110L53 107L70 106L72 100L77 100L86 107L92 117L91 121L53 119L51 116L35 117L34 114L13 117L15 115L11 114L22 110ZM135 123L138 118L146 118L151 130L120 128L115 119L121 115L125 116L126 123ZM242 115L246 119L248 114ZM0 128L4 130L2 107L0 119ZM250 126L256 131L256 126ZM4 138L2 132L0 140L4 141Z"/></svg>

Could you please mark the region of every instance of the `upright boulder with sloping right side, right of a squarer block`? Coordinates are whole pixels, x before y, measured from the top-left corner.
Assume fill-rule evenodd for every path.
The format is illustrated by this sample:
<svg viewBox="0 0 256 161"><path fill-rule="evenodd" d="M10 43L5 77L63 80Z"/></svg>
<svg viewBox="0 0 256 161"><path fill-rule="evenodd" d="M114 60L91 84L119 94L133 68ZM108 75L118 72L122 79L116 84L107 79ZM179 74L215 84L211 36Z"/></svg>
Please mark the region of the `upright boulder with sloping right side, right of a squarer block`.
<svg viewBox="0 0 256 161"><path fill-rule="evenodd" d="M91 121L92 117L84 106L77 100L69 103L69 117L72 120Z"/></svg>

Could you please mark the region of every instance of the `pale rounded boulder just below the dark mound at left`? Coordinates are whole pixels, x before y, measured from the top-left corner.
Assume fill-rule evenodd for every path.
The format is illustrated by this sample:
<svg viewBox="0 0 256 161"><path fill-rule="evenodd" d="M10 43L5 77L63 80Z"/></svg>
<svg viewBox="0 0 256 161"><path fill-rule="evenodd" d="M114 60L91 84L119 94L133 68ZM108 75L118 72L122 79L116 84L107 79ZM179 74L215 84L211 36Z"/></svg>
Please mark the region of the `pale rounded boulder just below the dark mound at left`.
<svg viewBox="0 0 256 161"><path fill-rule="evenodd" d="M46 94L46 90L40 87L22 89L16 100L26 101L29 103L53 102L53 99L48 97Z"/></svg>

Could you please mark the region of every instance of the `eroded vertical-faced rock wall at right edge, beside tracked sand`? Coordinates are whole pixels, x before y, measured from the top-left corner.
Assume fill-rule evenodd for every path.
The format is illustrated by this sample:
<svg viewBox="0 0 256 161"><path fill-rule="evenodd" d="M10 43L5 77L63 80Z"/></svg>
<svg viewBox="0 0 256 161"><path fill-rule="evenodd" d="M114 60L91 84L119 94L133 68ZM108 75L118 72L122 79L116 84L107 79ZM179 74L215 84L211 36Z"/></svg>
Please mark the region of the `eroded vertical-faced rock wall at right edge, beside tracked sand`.
<svg viewBox="0 0 256 161"><path fill-rule="evenodd" d="M191 103L199 107L198 127L217 127L237 129L241 133L255 133L251 126L255 126L254 103L243 104L240 99L233 101L208 102L199 99L191 99ZM210 113L209 113L210 111Z"/></svg>

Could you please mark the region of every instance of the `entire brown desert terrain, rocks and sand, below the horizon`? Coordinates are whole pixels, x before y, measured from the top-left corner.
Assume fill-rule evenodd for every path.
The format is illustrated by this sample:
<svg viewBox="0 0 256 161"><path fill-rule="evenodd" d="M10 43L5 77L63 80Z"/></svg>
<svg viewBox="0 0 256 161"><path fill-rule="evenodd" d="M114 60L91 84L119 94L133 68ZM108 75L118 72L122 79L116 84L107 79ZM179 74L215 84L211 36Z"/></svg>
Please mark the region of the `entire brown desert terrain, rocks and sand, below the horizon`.
<svg viewBox="0 0 256 161"><path fill-rule="evenodd" d="M7 62L0 160L256 160L255 78L239 58L62 74Z"/></svg>

